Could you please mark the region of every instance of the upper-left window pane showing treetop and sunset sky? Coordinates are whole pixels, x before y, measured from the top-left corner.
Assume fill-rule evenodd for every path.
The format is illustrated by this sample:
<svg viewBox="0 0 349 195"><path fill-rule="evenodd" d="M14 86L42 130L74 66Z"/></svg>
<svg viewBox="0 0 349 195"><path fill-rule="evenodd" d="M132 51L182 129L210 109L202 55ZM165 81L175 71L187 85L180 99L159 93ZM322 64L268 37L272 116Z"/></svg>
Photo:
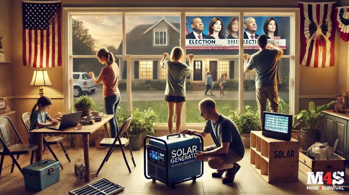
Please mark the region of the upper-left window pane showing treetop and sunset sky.
<svg viewBox="0 0 349 195"><path fill-rule="evenodd" d="M73 55L95 55L99 48L122 55L122 31L121 15L73 15Z"/></svg>

